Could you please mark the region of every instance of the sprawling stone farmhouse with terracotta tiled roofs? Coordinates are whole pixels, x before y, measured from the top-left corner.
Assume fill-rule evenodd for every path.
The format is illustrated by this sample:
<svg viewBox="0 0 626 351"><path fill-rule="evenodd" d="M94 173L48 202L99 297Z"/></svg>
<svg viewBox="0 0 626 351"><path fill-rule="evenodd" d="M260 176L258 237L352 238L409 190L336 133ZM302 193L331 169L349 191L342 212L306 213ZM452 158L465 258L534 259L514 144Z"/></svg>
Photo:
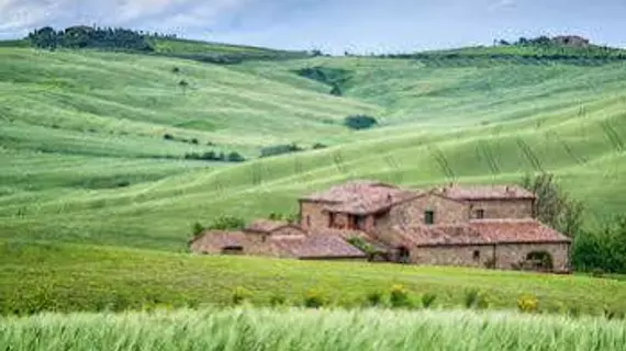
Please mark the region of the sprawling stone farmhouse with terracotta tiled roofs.
<svg viewBox="0 0 626 351"><path fill-rule="evenodd" d="M569 272L571 239L535 219L535 201L517 185L350 181L299 199L298 224L260 219L189 244L205 254Z"/></svg>

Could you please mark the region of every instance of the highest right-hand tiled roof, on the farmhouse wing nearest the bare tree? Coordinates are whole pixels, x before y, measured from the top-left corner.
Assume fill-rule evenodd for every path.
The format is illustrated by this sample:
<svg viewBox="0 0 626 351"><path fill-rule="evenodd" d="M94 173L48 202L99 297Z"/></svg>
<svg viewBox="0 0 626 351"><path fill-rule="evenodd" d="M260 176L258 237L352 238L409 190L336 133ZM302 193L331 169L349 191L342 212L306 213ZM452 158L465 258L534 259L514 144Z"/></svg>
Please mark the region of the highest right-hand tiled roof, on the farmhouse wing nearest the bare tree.
<svg viewBox="0 0 626 351"><path fill-rule="evenodd" d="M436 189L447 197L456 200L535 199L536 195L518 185L458 185Z"/></svg>

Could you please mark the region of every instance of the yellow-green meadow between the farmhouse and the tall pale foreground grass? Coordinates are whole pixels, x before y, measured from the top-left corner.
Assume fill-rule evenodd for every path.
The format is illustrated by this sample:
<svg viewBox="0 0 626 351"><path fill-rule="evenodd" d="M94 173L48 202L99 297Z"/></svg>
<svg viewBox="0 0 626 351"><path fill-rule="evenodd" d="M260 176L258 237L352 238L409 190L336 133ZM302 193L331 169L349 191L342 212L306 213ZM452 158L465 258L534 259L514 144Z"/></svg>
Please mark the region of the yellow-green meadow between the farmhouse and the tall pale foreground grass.
<svg viewBox="0 0 626 351"><path fill-rule="evenodd" d="M439 307L463 307L480 291L490 308L517 308L525 295L550 313L626 313L626 281L572 275L372 264L313 262L80 245L0 242L0 314L37 310L101 310L170 305L230 305L236 288L256 305L282 297L302 305L315 292L329 305L364 306L394 284L409 290L415 307L434 294ZM80 286L80 288L77 288Z"/></svg>

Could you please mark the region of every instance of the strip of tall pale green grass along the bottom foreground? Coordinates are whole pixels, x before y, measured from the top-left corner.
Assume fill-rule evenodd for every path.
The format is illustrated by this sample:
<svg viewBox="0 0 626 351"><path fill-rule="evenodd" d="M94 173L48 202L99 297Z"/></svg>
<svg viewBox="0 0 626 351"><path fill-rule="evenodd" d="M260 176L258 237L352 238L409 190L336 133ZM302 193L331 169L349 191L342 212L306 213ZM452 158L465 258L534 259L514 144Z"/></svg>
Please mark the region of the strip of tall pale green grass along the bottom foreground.
<svg viewBox="0 0 626 351"><path fill-rule="evenodd" d="M626 324L511 313L303 309L0 319L10 350L623 350ZM321 338L320 336L324 337ZM479 337L480 336L480 337Z"/></svg>

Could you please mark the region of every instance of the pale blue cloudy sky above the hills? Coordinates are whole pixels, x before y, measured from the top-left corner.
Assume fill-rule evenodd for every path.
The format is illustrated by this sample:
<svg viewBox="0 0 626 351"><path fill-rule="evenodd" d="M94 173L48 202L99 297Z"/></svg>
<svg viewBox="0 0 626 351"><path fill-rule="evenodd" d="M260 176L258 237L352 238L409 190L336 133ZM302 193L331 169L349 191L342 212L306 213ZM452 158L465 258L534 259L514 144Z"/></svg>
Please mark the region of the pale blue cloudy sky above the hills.
<svg viewBox="0 0 626 351"><path fill-rule="evenodd" d="M76 24L331 54L559 34L626 47L626 0L0 0L0 38Z"/></svg>

